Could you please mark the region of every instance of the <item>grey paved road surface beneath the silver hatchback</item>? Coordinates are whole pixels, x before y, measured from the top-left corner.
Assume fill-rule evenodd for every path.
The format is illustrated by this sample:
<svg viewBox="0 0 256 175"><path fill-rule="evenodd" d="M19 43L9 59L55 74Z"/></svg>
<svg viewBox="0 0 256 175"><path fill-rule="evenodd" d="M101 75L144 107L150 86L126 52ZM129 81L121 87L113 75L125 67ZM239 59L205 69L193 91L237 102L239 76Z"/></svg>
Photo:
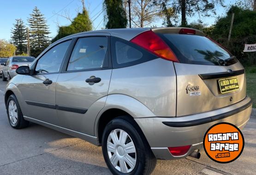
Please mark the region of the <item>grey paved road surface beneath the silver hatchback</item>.
<svg viewBox="0 0 256 175"><path fill-rule="evenodd" d="M23 130L9 125L0 81L0 175L110 175L101 147L30 124ZM235 162L218 164L203 152L200 159L158 160L154 175L255 175L256 118L243 130L244 152Z"/></svg>

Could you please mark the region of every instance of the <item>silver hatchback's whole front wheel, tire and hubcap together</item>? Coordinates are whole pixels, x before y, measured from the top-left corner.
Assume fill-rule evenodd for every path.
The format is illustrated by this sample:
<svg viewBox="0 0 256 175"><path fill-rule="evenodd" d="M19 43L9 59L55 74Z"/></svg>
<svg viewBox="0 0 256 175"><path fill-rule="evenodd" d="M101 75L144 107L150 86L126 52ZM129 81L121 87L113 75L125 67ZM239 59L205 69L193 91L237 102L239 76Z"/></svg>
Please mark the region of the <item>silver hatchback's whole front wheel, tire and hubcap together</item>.
<svg viewBox="0 0 256 175"><path fill-rule="evenodd" d="M26 121L23 118L16 96L13 94L9 96L6 106L8 120L12 128L22 129L29 125L29 121Z"/></svg>

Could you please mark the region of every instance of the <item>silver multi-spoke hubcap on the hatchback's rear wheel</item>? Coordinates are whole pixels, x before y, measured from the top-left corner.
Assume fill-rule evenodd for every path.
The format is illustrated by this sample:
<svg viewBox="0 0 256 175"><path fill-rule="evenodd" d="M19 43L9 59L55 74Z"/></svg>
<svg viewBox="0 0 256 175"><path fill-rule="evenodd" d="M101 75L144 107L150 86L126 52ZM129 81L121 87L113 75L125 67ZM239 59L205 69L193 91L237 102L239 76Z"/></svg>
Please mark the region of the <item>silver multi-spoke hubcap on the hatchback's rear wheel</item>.
<svg viewBox="0 0 256 175"><path fill-rule="evenodd" d="M136 165L136 148L130 135L124 130L116 129L107 138L107 153L110 162L122 173L130 173Z"/></svg>

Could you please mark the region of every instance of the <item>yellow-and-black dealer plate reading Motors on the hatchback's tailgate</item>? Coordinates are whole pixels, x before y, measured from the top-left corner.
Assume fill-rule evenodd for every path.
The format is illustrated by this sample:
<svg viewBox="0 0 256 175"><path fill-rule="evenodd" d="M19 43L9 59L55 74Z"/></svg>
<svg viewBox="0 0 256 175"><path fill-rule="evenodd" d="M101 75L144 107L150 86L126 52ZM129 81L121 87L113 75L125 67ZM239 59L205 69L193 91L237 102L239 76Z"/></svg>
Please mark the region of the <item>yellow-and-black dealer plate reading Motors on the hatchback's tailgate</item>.
<svg viewBox="0 0 256 175"><path fill-rule="evenodd" d="M232 92L234 90L239 90L237 77L229 77L226 79L219 79L218 83L219 83L221 94L224 94L227 92Z"/></svg>

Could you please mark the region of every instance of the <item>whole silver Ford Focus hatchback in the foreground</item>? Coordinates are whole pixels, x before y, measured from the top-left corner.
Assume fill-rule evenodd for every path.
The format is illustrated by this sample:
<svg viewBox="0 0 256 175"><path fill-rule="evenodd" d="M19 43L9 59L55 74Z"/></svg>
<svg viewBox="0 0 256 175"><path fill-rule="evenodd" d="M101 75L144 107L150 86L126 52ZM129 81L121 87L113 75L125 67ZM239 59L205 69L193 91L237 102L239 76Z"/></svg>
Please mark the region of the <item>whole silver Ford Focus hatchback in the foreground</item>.
<svg viewBox="0 0 256 175"><path fill-rule="evenodd" d="M34 122L102 146L114 175L199 158L209 127L242 129L252 109L241 63L191 28L74 34L16 72L5 92L11 126Z"/></svg>

